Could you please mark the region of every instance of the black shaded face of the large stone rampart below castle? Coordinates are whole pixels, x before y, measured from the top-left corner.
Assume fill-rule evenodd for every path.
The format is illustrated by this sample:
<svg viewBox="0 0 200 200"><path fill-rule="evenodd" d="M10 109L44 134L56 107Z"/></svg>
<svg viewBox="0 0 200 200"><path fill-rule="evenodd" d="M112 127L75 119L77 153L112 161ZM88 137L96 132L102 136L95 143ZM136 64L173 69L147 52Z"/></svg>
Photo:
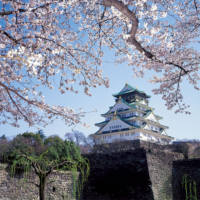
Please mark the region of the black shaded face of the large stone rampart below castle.
<svg viewBox="0 0 200 200"><path fill-rule="evenodd" d="M90 160L91 175L82 199L154 200L144 148L83 156Z"/></svg>

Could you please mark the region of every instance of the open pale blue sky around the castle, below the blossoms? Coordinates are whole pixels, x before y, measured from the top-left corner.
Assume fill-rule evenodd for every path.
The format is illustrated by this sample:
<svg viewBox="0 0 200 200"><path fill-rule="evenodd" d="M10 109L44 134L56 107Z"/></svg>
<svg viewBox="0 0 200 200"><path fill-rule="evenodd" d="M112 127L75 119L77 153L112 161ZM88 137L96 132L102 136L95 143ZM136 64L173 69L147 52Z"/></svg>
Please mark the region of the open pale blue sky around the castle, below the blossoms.
<svg viewBox="0 0 200 200"><path fill-rule="evenodd" d="M94 126L94 124L103 121L104 118L100 115L107 112L109 106L112 106L115 103L112 94L119 92L127 81L128 84L137 86L139 90L143 90L151 95L149 106L155 108L154 113L156 115L163 117L163 119L160 120L160 123L169 126L169 129L167 130L168 135L175 137L175 139L200 139L198 126L200 115L200 92L195 90L187 80L181 84L181 90L184 96L184 103L190 105L189 111L191 111L191 115L175 114L175 109L167 110L165 101L162 100L161 95L153 95L151 92L156 85L147 82L147 80L151 78L152 75L156 75L154 71L146 71L144 78L133 79L133 70L131 67L128 67L126 63L117 66L114 65L113 51L106 50L105 55L102 68L104 77L108 76L110 79L109 88L106 88L105 86L92 88L92 97L86 96L83 92L83 87L78 85L74 87L75 90L79 90L78 94L68 91L65 94L60 94L57 88L54 88L53 90L46 88L42 89L42 92L46 97L46 102L50 105L60 104L73 109L82 108L83 111L88 112L97 109L97 112L88 113L82 119L83 122L91 126L90 129L77 125L74 130L83 132L86 136L96 132L98 127ZM41 129L43 129L46 136L57 134L65 139L65 133L70 132L72 127L68 127L64 122L58 119L53 124L48 125L46 128L41 127ZM0 126L0 136L5 134L9 138L25 131L36 132L37 129L29 128L28 124L23 121L21 121L19 128L14 128L10 125Z"/></svg>

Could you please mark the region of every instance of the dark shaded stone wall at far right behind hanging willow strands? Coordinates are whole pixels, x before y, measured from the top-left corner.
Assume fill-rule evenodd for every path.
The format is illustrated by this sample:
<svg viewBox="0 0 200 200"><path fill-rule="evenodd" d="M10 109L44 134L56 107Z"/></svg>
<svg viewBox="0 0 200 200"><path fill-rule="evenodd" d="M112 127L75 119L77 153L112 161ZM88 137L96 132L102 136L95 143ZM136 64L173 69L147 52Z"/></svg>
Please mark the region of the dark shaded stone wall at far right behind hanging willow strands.
<svg viewBox="0 0 200 200"><path fill-rule="evenodd" d="M182 186L184 174L189 174L189 176L187 177L187 180L192 179L196 182L197 199L199 200L200 199L200 159L173 161L173 168L172 168L173 199L174 200L186 199L185 185L184 187ZM188 189L188 196L189 196L190 195L189 187L187 187L187 189ZM192 194L194 195L193 191L192 191Z"/></svg>

